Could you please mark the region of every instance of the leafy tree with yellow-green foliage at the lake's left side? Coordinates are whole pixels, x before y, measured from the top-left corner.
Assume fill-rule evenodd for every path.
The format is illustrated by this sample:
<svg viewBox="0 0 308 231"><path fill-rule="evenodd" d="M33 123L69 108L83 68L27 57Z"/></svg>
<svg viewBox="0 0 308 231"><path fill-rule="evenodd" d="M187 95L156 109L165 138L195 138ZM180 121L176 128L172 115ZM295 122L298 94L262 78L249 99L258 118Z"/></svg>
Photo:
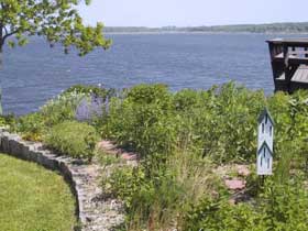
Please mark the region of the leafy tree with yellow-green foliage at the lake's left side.
<svg viewBox="0 0 308 231"><path fill-rule="evenodd" d="M102 33L102 23L87 26L76 8L90 0L0 0L0 69L3 47L23 46L29 36L44 36L46 41L62 44L67 54L75 47L80 56L95 47L108 48L110 40Z"/></svg>

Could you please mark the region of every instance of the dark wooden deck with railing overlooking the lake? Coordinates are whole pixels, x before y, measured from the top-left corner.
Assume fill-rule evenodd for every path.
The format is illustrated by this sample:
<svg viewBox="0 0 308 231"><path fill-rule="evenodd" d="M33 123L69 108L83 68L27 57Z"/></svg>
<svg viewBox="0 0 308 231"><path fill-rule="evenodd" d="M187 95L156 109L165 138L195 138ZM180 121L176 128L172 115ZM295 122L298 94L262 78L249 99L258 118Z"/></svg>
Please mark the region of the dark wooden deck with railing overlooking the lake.
<svg viewBox="0 0 308 231"><path fill-rule="evenodd" d="M276 38L267 43L275 91L308 89L308 38Z"/></svg>

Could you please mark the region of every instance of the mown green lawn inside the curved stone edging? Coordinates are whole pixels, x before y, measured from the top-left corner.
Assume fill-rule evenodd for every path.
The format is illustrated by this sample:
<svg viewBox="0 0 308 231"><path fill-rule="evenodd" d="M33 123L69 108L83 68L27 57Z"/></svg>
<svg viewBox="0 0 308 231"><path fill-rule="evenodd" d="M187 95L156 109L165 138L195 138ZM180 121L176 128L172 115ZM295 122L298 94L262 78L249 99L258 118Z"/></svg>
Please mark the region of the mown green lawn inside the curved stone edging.
<svg viewBox="0 0 308 231"><path fill-rule="evenodd" d="M0 230L69 231L75 199L63 177L0 154Z"/></svg>

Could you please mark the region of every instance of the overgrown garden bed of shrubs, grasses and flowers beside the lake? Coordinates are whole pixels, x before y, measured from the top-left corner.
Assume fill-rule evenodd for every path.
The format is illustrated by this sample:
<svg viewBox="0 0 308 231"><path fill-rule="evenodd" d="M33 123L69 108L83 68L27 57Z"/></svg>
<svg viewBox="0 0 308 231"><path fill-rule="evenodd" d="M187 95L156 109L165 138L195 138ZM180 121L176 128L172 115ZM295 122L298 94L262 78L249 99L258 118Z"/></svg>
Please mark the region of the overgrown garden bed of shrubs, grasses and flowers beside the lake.
<svg viewBox="0 0 308 231"><path fill-rule="evenodd" d="M256 128L264 108L275 122L274 175L261 180ZM96 162L100 199L123 201L121 230L308 229L307 91L265 96L233 82L178 92L76 86L4 122L57 158Z"/></svg>

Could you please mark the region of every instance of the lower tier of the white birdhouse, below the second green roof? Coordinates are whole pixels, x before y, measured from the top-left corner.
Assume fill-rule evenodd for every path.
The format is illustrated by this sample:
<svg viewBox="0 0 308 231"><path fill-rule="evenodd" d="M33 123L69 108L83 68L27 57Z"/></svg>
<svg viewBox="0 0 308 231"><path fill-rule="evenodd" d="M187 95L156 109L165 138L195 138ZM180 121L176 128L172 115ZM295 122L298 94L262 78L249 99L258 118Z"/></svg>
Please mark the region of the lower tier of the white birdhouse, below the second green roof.
<svg viewBox="0 0 308 231"><path fill-rule="evenodd" d="M257 175L272 175L273 152L266 142L263 142L257 151L256 172Z"/></svg>

